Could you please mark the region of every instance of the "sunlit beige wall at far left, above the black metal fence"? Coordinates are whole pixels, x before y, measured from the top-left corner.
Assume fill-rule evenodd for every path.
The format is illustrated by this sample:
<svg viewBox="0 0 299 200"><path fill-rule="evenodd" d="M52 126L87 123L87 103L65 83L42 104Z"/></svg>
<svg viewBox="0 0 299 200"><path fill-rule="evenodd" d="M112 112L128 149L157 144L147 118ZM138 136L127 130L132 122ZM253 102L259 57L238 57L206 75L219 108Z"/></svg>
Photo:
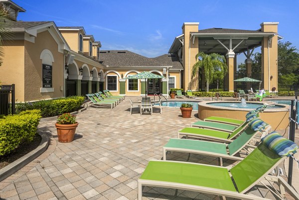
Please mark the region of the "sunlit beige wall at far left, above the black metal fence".
<svg viewBox="0 0 299 200"><path fill-rule="evenodd" d="M4 57L0 66L3 85L15 84L15 99L24 101L24 40L4 40Z"/></svg>

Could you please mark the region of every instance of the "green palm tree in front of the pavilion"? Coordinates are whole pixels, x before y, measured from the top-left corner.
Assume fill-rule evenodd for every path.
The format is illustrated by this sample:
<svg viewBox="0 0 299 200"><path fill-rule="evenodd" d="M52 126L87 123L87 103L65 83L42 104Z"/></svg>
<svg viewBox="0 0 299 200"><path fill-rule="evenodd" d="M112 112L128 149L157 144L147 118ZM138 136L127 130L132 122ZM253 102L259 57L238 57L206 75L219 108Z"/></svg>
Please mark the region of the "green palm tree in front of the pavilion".
<svg viewBox="0 0 299 200"><path fill-rule="evenodd" d="M206 54L199 52L195 56L197 62L192 67L192 75L198 74L199 69L203 69L205 81L207 82L206 91L209 91L209 82L213 75L217 73L217 77L222 79L227 72L225 57L218 53ZM201 58L201 59L200 59Z"/></svg>

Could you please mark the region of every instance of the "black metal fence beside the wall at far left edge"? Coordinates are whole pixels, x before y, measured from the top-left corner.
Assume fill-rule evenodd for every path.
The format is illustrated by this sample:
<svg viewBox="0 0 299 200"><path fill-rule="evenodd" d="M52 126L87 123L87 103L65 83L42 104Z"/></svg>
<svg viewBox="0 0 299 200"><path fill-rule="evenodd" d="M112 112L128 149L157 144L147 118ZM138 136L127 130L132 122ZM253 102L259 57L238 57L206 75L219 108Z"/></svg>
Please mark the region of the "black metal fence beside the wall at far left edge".
<svg viewBox="0 0 299 200"><path fill-rule="evenodd" d="M15 114L14 84L0 85L0 115Z"/></svg>

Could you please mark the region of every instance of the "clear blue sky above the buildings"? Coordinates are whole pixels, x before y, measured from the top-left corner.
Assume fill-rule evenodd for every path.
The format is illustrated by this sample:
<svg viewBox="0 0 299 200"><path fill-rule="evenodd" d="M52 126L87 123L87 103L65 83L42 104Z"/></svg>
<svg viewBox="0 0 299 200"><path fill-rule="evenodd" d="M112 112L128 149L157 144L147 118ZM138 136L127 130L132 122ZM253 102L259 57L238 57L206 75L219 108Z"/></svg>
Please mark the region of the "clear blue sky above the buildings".
<svg viewBox="0 0 299 200"><path fill-rule="evenodd" d="M299 48L299 0L13 0L26 9L18 20L84 26L102 49L127 49L148 57L167 53L183 22L199 29L256 30L279 21L283 41ZM244 62L240 56L238 63Z"/></svg>

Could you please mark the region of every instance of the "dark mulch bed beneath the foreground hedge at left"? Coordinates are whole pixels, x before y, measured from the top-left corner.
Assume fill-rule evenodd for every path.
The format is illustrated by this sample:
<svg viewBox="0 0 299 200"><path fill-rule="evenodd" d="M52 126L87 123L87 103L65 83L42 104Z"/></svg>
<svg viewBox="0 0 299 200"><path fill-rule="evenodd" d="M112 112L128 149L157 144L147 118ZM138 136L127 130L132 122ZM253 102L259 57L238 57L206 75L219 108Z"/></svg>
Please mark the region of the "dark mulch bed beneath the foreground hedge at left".
<svg viewBox="0 0 299 200"><path fill-rule="evenodd" d="M0 156L0 169L4 168L5 166L9 165L10 163L16 161L17 159L21 158L22 156L28 154L29 152L37 148L40 144L40 141L41 137L38 134L36 134L32 142L20 145L18 148L13 150L13 152L11 152L8 155Z"/></svg>

